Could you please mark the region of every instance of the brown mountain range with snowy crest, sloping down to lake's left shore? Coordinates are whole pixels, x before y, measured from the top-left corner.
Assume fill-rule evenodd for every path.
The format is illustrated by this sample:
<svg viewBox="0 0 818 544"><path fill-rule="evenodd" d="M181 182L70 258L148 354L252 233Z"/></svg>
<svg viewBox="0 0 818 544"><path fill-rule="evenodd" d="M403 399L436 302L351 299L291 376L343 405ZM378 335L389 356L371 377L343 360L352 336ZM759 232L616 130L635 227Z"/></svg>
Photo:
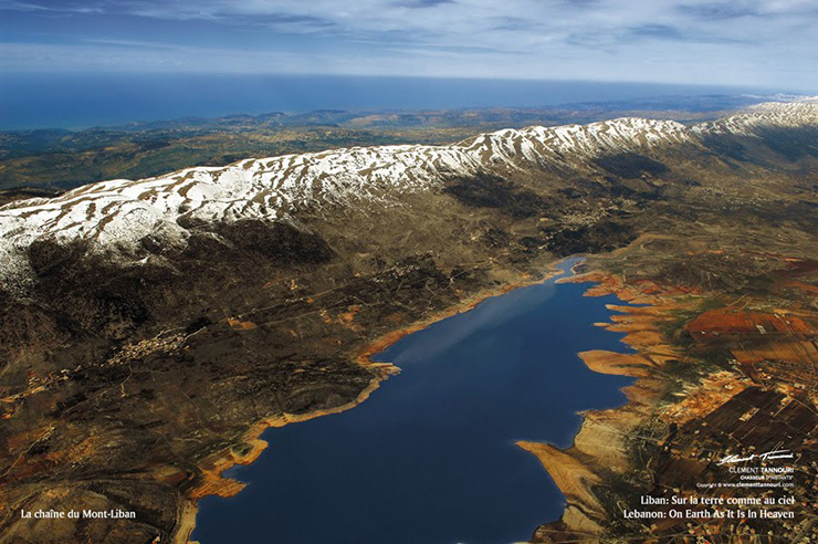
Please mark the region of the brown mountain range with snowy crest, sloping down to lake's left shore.
<svg viewBox="0 0 818 544"><path fill-rule="evenodd" d="M694 126L621 118L247 159L11 202L3 540L183 540L197 498L240 488L218 474L258 452L264 425L363 399L382 378L356 363L374 341L559 257L636 244L623 278L772 297L766 278L818 254L817 136L818 103L803 101ZM136 517L19 515L66 504Z"/></svg>

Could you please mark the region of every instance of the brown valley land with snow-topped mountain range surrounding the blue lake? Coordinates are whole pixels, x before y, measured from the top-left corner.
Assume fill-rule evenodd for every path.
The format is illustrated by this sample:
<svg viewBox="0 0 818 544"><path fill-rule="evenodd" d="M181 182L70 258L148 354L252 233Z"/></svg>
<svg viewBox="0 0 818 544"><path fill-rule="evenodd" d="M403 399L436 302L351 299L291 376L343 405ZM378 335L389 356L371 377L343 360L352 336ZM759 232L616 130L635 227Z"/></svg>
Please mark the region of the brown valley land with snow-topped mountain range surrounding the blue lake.
<svg viewBox="0 0 818 544"><path fill-rule="evenodd" d="M265 428L363 401L389 368L360 363L402 332L575 254L589 295L643 305L600 324L637 353L583 354L636 381L570 448L520 444L567 500L533 541L815 534L818 104L473 134L0 208L6 540L185 542L197 500L240 491L220 474ZM720 478L722 451L762 451L769 429L798 454L795 519L621 516ZM136 516L19 514L65 504Z"/></svg>

